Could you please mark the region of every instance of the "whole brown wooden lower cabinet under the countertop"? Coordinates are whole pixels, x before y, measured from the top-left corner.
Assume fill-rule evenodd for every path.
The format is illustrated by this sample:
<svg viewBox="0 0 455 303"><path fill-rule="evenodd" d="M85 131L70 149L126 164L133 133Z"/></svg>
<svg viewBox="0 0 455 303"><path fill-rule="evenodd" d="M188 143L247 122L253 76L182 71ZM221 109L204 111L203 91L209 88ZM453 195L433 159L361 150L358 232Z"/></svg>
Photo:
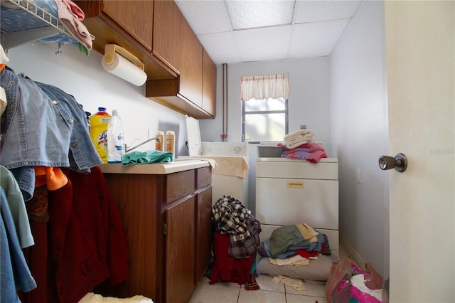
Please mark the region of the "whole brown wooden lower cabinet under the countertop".
<svg viewBox="0 0 455 303"><path fill-rule="evenodd" d="M111 295L188 302L210 262L210 166L165 175L104 175L129 250L129 277Z"/></svg>

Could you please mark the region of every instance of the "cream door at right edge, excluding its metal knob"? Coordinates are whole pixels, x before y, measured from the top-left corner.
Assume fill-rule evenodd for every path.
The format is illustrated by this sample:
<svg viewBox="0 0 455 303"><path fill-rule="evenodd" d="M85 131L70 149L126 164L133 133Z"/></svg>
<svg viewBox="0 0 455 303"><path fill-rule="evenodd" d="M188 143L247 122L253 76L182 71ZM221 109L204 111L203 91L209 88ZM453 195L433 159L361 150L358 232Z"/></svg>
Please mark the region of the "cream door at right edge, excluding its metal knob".
<svg viewBox="0 0 455 303"><path fill-rule="evenodd" d="M385 1L390 302L455 302L454 1Z"/></svg>

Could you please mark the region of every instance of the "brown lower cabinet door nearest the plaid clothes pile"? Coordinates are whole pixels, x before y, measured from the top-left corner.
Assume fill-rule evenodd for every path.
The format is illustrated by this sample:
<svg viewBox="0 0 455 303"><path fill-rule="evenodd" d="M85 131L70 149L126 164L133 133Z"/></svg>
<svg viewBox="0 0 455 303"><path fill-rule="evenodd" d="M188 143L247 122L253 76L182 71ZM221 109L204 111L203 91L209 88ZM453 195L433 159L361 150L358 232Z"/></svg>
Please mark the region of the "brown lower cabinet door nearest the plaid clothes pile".
<svg viewBox="0 0 455 303"><path fill-rule="evenodd" d="M196 276L197 283L204 275L205 269L210 262L212 245L212 186L201 191L196 196Z"/></svg>

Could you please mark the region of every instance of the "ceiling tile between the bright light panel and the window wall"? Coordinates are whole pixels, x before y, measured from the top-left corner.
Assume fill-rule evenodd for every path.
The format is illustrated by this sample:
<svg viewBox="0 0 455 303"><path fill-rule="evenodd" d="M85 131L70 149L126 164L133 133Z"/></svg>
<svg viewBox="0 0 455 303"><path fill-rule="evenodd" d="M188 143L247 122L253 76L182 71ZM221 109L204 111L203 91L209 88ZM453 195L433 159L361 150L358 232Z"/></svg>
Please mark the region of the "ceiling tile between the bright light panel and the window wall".
<svg viewBox="0 0 455 303"><path fill-rule="evenodd" d="M286 57L291 27L276 26L232 32L242 62L278 60Z"/></svg>

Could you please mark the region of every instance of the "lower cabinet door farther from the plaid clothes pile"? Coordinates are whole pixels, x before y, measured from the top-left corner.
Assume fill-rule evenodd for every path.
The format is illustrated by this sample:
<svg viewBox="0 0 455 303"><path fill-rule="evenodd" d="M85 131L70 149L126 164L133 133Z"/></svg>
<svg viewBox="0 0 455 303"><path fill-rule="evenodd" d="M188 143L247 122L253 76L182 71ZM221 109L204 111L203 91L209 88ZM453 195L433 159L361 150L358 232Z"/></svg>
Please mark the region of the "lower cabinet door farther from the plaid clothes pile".
<svg viewBox="0 0 455 303"><path fill-rule="evenodd" d="M195 196L166 211L166 302L188 302L195 280Z"/></svg>

